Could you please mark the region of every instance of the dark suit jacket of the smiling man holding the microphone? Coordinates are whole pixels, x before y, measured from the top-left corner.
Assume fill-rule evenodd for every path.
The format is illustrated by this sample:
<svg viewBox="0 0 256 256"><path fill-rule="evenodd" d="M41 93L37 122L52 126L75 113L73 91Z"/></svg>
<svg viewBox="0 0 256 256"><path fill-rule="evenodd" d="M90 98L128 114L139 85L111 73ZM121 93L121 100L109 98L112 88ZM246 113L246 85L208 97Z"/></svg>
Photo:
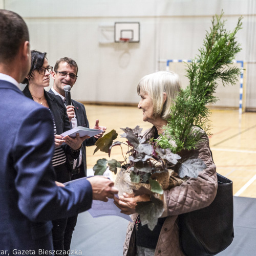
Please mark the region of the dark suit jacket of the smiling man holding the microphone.
<svg viewBox="0 0 256 256"><path fill-rule="evenodd" d="M52 89L49 90L49 93L54 94ZM59 96L57 96L57 97L59 97ZM76 119L77 119L77 125L89 128L90 127L89 126L89 121L87 119L86 108L84 108L84 105L82 103L78 102L78 101L73 100L73 99L71 100L71 102L72 102L72 105L75 107L75 114L76 114ZM82 145L82 164L81 164L81 167L83 168L83 170L78 175L79 178L87 176L86 146L92 146L92 145L95 144L95 142L96 142L96 139L94 137L91 137L89 139L86 139L82 143L83 145ZM70 164L73 167L73 162L71 162Z"/></svg>

